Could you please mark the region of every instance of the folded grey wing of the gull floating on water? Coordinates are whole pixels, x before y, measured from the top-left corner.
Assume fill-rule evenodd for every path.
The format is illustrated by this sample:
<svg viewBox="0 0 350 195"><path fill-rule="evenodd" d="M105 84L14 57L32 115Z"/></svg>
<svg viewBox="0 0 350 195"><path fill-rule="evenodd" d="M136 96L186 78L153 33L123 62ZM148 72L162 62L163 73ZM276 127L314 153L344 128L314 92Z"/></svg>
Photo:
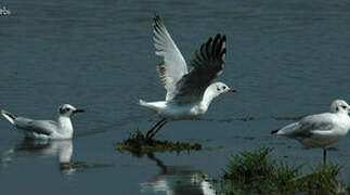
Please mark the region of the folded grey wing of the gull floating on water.
<svg viewBox="0 0 350 195"><path fill-rule="evenodd" d="M33 131L38 134L50 135L53 130L57 128L57 123L52 120L31 120L18 117L15 119L15 127L24 131Z"/></svg>

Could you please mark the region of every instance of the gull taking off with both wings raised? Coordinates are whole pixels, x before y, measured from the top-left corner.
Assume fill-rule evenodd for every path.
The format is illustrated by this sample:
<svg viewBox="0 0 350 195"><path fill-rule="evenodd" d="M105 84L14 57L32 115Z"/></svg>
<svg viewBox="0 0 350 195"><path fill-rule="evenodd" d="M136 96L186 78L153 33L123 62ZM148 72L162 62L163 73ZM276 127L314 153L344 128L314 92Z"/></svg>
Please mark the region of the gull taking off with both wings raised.
<svg viewBox="0 0 350 195"><path fill-rule="evenodd" d="M222 82L211 83L223 69L226 54L224 35L219 34L213 39L210 37L202 44L190 63L192 68L189 72L181 52L159 16L154 17L153 32L156 55L164 57L164 63L157 68L167 94L165 101L140 100L140 105L153 109L161 117L161 120L147 131L147 140L152 140L168 120L197 118L207 112L210 102L219 94L235 91Z"/></svg>

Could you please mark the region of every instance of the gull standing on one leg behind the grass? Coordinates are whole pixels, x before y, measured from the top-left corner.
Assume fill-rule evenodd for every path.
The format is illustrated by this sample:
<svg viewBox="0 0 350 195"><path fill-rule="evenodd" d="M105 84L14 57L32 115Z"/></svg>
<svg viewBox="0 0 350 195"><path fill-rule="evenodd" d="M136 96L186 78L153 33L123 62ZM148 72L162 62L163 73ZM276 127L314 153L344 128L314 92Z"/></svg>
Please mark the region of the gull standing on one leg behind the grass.
<svg viewBox="0 0 350 195"><path fill-rule="evenodd" d="M323 147L323 164L326 165L326 147L349 131L349 109L350 106L346 101L336 100L332 103L329 113L306 116L300 121L271 133L296 139L307 147Z"/></svg>

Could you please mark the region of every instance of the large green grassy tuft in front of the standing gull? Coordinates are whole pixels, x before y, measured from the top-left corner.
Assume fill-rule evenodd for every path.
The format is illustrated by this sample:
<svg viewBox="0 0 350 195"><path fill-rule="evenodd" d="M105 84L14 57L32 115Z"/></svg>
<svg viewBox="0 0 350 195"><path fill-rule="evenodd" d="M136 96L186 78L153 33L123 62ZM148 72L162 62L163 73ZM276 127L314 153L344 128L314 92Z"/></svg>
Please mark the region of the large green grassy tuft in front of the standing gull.
<svg viewBox="0 0 350 195"><path fill-rule="evenodd" d="M260 147L254 152L232 155L220 179L212 180L221 194L338 194L345 184L337 180L340 166L322 165L302 174L302 165L287 165L271 157L272 148Z"/></svg>

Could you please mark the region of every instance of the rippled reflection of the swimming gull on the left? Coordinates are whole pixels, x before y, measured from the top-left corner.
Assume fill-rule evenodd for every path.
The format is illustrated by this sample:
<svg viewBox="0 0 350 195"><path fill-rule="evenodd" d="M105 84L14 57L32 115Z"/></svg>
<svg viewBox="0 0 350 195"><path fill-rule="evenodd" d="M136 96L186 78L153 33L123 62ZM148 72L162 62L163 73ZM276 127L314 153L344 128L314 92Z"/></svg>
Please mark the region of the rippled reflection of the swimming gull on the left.
<svg viewBox="0 0 350 195"><path fill-rule="evenodd" d="M112 165L88 165L81 161L72 161L73 155L72 140L23 140L13 148L4 152L1 156L1 166L10 166L11 162L21 157L57 157L59 170L63 174L72 174L77 170L87 168L112 167Z"/></svg>

